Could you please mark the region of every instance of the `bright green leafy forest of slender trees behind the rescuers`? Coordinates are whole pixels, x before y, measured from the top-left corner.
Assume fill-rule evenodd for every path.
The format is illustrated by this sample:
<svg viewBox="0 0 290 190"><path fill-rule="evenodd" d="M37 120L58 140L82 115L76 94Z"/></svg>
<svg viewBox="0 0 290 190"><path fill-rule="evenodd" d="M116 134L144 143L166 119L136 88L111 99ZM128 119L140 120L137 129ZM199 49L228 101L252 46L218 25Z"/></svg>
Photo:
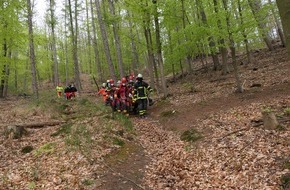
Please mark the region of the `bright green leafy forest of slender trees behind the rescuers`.
<svg viewBox="0 0 290 190"><path fill-rule="evenodd" d="M246 54L244 62L250 63L251 51L265 46L271 51L287 40L271 0L67 0L57 13L54 0L46 3L45 22L37 26L30 1L2 2L1 97L8 92L38 97L43 83L74 82L82 89L81 74L101 83L132 72L146 75L166 97L166 77L194 73L197 59L226 74L229 56L234 66L237 54ZM287 30L287 9L284 13Z"/></svg>

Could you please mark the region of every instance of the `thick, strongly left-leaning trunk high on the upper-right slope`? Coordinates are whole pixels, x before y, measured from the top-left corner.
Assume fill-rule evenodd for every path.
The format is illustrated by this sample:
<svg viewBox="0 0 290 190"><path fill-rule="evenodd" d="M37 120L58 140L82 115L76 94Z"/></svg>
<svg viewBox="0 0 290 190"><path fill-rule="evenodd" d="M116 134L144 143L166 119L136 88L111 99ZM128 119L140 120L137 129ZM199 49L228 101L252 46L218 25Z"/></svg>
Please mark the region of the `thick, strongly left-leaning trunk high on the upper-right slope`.
<svg viewBox="0 0 290 190"><path fill-rule="evenodd" d="M258 23L258 28L261 32L262 38L264 42L266 43L268 49L270 51L274 50L272 43L271 43L271 38L266 30L266 24L265 21L267 20L266 15L261 15L259 12L261 12L261 0L248 0L249 5L251 7L252 13L255 17L255 20Z"/></svg>

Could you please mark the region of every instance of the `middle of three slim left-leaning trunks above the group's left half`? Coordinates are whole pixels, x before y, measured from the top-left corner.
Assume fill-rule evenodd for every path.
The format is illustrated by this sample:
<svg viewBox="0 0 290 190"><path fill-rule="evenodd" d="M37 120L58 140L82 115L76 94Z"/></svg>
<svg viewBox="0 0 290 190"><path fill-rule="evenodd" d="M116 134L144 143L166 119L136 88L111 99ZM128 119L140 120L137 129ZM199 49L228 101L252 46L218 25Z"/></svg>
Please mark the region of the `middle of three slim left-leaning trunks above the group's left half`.
<svg viewBox="0 0 290 190"><path fill-rule="evenodd" d="M116 72L115 72L113 61L112 61L108 37L107 37L107 30L103 21L103 16L101 13L101 6L100 6L99 0L95 0L95 4L96 4L96 9L97 9L97 14L98 14L99 25L101 29L101 35L103 39L103 45L105 48L105 54L106 54L107 62L110 69L110 74L111 74L112 79L114 79L114 81L117 81Z"/></svg>

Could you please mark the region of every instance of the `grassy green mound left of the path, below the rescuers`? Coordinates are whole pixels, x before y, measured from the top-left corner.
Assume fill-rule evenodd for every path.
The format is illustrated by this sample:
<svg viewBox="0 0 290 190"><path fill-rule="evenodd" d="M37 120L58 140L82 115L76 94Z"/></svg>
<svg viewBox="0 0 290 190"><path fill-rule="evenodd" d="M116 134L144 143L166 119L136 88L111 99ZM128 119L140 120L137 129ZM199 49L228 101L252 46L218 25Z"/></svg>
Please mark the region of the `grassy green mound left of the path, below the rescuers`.
<svg viewBox="0 0 290 190"><path fill-rule="evenodd" d="M131 146L136 136L129 117L112 114L110 107L95 99L78 97L68 101L57 98L54 92L46 92L38 100L31 99L26 108L45 113L52 120L65 121L51 133L52 141L54 138L62 138L65 149L79 151L89 160L95 157L93 150L108 147L112 147L112 154L116 159L125 158L125 149ZM33 151L34 156L38 157L49 156L56 150L55 143L47 142L36 150L23 151Z"/></svg>

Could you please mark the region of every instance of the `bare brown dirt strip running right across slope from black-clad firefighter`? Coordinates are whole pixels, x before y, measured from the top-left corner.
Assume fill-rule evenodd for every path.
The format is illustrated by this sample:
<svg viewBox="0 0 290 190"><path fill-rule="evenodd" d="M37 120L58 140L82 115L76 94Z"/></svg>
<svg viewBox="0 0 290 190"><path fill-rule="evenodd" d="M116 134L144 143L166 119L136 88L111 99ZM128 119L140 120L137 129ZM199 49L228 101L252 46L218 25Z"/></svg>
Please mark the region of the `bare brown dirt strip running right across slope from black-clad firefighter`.
<svg viewBox="0 0 290 190"><path fill-rule="evenodd" d="M251 103L269 104L275 99L290 95L290 84L281 83L266 88L253 88L244 93L235 93L227 97L216 97L205 102L193 104L170 104L155 106L150 110L150 117L159 120L168 130L184 131L192 128L200 119L206 119L213 113L225 112L231 108L246 106ZM175 111L173 117L162 117L166 111Z"/></svg>

